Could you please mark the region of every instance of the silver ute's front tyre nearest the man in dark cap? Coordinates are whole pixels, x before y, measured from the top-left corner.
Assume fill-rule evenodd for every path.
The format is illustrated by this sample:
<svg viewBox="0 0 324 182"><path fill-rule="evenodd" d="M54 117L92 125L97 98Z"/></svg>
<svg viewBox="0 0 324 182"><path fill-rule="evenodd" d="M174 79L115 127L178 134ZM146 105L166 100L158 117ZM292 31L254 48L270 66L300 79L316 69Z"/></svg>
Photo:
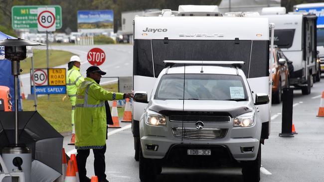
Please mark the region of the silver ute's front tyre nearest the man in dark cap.
<svg viewBox="0 0 324 182"><path fill-rule="evenodd" d="M143 157L142 150L140 150L140 180L141 182L154 182L157 178L157 167L153 159L146 159Z"/></svg>

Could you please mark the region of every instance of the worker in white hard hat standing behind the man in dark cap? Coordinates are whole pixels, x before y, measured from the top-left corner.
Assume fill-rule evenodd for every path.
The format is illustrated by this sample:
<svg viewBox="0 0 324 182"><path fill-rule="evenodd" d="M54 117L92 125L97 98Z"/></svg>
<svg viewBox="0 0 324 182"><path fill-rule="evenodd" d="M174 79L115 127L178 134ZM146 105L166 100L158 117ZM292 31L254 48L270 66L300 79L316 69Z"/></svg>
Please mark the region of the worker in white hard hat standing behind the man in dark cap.
<svg viewBox="0 0 324 182"><path fill-rule="evenodd" d="M70 62L68 63L68 71L66 76L66 90L72 104L72 137L71 142L68 145L75 144L75 129L74 129L74 111L75 111L75 100L76 91L80 84L84 81L84 78L80 74L81 60L79 56L72 56Z"/></svg>

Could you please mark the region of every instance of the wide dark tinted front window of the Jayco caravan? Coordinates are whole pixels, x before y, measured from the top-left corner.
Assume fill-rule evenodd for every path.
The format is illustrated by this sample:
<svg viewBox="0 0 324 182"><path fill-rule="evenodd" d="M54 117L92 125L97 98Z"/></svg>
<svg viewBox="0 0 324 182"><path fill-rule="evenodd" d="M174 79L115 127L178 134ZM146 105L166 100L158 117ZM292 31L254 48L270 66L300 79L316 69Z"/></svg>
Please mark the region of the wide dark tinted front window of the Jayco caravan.
<svg viewBox="0 0 324 182"><path fill-rule="evenodd" d="M165 68L164 60L244 61L247 78L267 77L269 41L135 39L134 75L157 78Z"/></svg>

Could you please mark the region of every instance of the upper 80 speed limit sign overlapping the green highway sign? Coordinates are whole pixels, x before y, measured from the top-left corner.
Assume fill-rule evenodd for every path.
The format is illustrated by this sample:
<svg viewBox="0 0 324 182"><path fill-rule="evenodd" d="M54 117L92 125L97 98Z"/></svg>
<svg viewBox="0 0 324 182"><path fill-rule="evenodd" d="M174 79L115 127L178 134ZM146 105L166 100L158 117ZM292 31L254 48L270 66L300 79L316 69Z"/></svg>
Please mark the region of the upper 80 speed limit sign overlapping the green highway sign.
<svg viewBox="0 0 324 182"><path fill-rule="evenodd" d="M38 7L37 8L37 27L38 31L55 31L55 8Z"/></svg>

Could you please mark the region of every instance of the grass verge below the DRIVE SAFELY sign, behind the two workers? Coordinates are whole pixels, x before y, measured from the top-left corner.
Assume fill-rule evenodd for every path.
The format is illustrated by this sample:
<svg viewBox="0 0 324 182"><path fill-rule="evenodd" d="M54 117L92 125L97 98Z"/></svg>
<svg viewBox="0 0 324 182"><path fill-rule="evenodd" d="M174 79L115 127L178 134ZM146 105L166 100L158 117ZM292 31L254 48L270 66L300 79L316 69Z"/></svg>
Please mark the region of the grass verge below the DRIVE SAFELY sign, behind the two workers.
<svg viewBox="0 0 324 182"><path fill-rule="evenodd" d="M117 91L117 84L103 86L108 91ZM51 124L58 132L69 132L71 128L71 103L69 98L62 98L64 94L52 94L47 100L47 95L37 98L37 111L43 116L46 121ZM24 111L32 111L34 108L34 100L22 101ZM111 105L112 106L112 105ZM124 115L124 107L118 107L118 116L121 118Z"/></svg>

